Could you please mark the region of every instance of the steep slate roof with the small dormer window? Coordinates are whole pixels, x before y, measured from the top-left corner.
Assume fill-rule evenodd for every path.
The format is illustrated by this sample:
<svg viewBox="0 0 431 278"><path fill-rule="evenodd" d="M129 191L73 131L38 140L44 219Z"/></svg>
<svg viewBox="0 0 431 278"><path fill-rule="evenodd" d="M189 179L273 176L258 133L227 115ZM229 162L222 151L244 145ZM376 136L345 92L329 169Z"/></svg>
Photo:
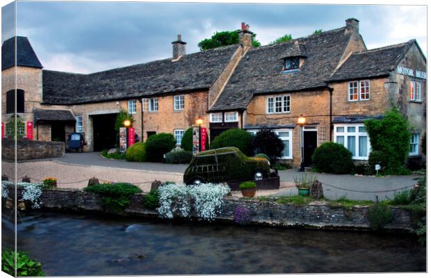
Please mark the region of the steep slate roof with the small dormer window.
<svg viewBox="0 0 431 278"><path fill-rule="evenodd" d="M245 109L253 95L326 87L350 35L343 27L291 42L250 49L238 63L211 111ZM295 43L297 41L300 44ZM307 58L300 70L283 72L282 56L304 52Z"/></svg>

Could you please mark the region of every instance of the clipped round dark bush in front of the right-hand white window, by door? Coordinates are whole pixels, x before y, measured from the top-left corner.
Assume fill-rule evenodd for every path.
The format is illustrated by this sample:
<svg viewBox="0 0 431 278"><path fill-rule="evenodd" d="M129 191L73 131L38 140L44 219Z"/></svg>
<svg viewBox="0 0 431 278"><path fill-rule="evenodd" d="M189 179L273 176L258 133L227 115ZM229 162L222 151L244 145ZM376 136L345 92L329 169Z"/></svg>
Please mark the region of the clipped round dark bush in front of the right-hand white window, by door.
<svg viewBox="0 0 431 278"><path fill-rule="evenodd" d="M348 174L352 171L352 153L343 145L325 142L311 157L315 170L333 174Z"/></svg>

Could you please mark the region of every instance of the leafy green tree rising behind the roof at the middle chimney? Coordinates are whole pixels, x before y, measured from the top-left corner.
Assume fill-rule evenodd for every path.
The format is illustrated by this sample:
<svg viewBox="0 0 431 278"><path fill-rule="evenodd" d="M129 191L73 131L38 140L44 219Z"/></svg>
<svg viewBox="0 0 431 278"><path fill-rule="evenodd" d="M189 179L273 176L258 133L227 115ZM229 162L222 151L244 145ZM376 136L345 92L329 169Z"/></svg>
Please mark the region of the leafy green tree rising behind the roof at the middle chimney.
<svg viewBox="0 0 431 278"><path fill-rule="evenodd" d="M237 31L222 31L215 32L214 35L209 39L201 40L197 46L201 51L208 49L215 49L217 47L224 47L226 45L238 44L239 35ZM252 35L252 46L260 47L261 43L256 40L256 34Z"/></svg>

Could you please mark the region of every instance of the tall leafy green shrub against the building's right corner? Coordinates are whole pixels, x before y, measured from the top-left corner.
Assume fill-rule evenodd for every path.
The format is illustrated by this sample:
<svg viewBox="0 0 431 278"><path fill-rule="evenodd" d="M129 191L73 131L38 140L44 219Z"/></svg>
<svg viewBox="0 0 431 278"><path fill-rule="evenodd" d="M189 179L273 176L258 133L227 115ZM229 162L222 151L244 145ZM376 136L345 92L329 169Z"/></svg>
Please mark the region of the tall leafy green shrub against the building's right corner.
<svg viewBox="0 0 431 278"><path fill-rule="evenodd" d="M383 165L382 174L408 174L404 165L409 154L412 134L409 123L396 108L387 111L382 120L366 120L366 131L373 152L382 152L378 158ZM383 156L384 154L384 156Z"/></svg>

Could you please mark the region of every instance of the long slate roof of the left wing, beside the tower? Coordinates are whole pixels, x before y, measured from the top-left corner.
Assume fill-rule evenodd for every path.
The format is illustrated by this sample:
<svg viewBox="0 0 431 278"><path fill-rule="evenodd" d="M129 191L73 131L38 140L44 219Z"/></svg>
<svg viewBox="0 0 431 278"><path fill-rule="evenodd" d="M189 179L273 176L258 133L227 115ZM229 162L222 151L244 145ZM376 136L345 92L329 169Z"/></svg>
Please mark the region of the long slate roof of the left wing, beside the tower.
<svg viewBox="0 0 431 278"><path fill-rule="evenodd" d="M42 72L46 104L82 104L209 88L239 44L93 74Z"/></svg>

